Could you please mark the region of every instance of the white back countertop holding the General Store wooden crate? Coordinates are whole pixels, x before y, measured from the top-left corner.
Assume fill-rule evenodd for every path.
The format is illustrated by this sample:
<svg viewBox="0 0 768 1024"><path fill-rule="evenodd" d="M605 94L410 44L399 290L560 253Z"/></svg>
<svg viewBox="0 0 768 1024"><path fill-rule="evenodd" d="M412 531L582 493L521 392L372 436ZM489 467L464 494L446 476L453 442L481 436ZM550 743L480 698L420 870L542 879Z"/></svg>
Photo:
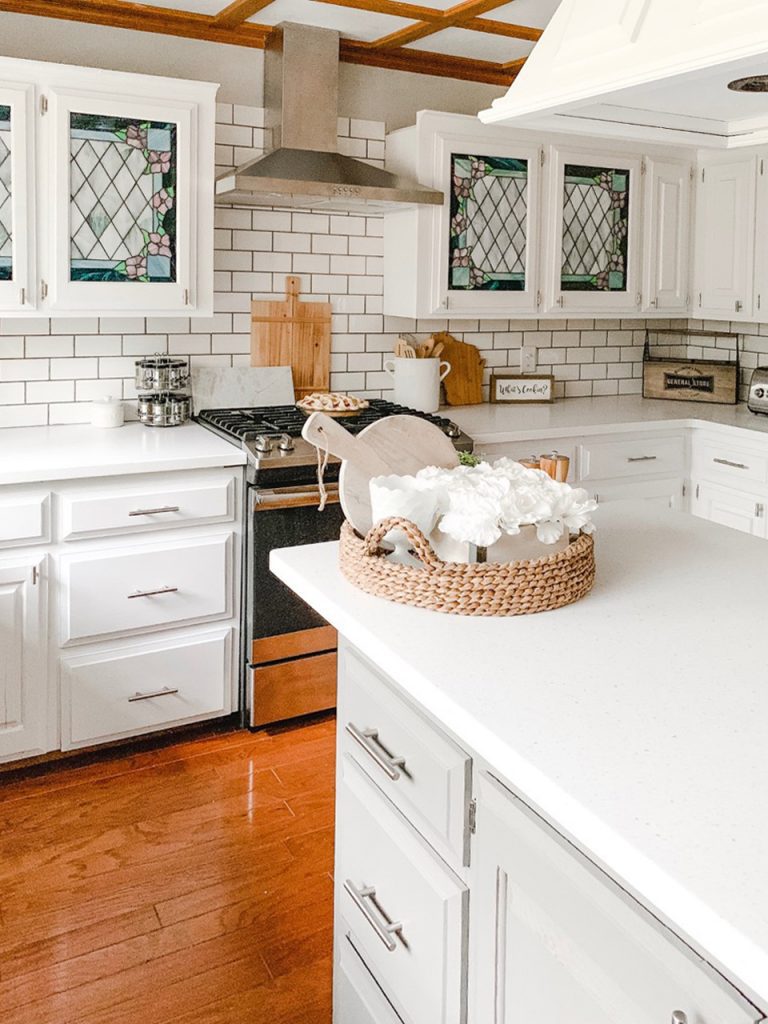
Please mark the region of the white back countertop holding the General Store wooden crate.
<svg viewBox="0 0 768 1024"><path fill-rule="evenodd" d="M489 404L446 407L441 416L455 420L477 444L530 438L674 430L685 427L735 427L768 434L768 416L756 416L743 402L708 406L652 398L564 398L548 406Z"/></svg>

